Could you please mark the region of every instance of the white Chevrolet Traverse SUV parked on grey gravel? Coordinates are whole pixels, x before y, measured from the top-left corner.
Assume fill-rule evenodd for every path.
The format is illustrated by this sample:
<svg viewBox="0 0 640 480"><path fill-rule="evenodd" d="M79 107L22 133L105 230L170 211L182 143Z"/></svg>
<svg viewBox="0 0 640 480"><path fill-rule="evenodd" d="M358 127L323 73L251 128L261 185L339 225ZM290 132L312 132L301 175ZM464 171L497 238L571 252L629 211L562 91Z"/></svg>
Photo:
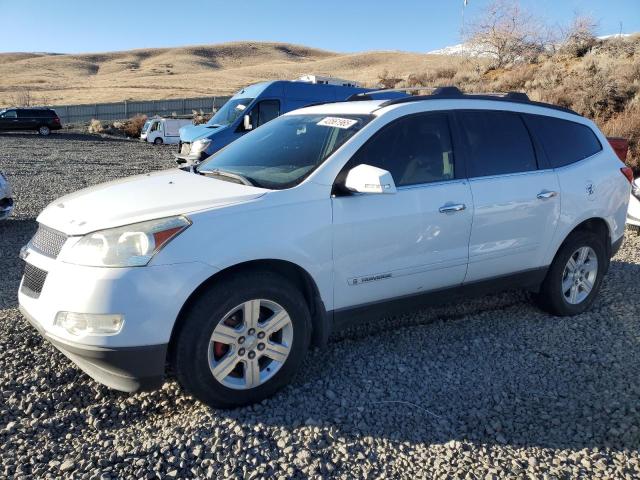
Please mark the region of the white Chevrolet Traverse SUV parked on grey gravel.
<svg viewBox="0 0 640 480"><path fill-rule="evenodd" d="M247 404L363 314L515 287L584 311L629 175L591 121L522 94L312 106L196 171L53 202L21 252L20 305L110 387L158 387L168 364L202 401Z"/></svg>

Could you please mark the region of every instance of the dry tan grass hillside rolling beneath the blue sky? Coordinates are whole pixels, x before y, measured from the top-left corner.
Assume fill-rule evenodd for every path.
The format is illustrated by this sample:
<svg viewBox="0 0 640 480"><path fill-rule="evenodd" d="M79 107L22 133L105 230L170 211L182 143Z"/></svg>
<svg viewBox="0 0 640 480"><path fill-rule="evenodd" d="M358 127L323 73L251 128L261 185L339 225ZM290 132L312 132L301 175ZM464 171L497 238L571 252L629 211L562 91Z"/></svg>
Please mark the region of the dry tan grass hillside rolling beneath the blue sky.
<svg viewBox="0 0 640 480"><path fill-rule="evenodd" d="M267 79L332 75L377 83L461 59L406 52L335 53L286 43L234 42L94 54L0 54L0 105L76 104L230 94Z"/></svg>

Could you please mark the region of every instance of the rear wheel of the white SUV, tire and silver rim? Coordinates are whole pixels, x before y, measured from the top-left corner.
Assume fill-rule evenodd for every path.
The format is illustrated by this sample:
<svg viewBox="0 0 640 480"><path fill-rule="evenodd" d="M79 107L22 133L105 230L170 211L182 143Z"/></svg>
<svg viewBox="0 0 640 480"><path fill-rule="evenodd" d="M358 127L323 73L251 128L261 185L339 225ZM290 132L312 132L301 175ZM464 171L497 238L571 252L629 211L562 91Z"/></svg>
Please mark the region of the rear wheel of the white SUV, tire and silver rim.
<svg viewBox="0 0 640 480"><path fill-rule="evenodd" d="M601 235L587 231L569 235L537 294L542 309L553 315L571 316L591 306L609 265L605 241Z"/></svg>

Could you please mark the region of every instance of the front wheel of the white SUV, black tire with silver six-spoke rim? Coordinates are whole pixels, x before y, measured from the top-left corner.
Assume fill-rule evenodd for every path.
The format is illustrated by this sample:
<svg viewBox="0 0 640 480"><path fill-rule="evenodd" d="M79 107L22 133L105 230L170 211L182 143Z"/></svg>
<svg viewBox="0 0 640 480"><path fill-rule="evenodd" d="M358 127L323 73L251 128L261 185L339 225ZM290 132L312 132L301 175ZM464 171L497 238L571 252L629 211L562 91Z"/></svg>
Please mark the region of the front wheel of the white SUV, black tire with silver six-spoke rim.
<svg viewBox="0 0 640 480"><path fill-rule="evenodd" d="M230 408L259 402L291 381L309 348L311 316L286 278L240 273L199 293L178 328L178 382L202 402Z"/></svg>

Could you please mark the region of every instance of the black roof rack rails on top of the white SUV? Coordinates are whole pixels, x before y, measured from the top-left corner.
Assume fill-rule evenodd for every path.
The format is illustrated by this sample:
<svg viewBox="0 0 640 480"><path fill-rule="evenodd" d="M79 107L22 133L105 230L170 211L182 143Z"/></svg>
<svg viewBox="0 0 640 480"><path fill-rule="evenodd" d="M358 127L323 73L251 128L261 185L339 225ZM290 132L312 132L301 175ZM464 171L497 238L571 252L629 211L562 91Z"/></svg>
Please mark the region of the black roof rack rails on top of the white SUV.
<svg viewBox="0 0 640 480"><path fill-rule="evenodd" d="M357 100L374 100L371 95L384 92L415 92L421 90L429 90L429 95L413 95L401 98L394 98L393 100L387 100L380 104L380 108L387 107L389 105L397 105L399 103L419 102L423 100L442 100L442 99L464 99L464 100L492 100L503 101L511 103L522 103L527 105L534 105L538 107L551 108L559 110L565 113L571 113L573 115L580 115L579 113L571 110L570 108L561 107L559 105L552 105L550 103L536 102L531 100L526 93L523 92L488 92L488 93L463 93L458 87L443 86L443 87L406 87L406 88L390 88L374 90L372 92L357 93L351 95L348 101Z"/></svg>

